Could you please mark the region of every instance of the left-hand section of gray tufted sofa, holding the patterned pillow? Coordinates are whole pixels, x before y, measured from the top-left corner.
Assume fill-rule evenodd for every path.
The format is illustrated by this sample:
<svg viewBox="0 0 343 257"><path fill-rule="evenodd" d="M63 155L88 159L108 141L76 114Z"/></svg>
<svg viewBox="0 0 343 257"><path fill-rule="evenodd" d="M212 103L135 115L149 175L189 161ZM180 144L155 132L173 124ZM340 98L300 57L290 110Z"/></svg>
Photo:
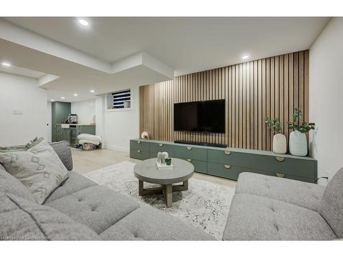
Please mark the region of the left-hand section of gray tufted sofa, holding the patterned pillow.
<svg viewBox="0 0 343 257"><path fill-rule="evenodd" d="M71 171L67 142L53 143L69 178L43 205L0 164L1 240L214 240L202 230Z"/></svg>

